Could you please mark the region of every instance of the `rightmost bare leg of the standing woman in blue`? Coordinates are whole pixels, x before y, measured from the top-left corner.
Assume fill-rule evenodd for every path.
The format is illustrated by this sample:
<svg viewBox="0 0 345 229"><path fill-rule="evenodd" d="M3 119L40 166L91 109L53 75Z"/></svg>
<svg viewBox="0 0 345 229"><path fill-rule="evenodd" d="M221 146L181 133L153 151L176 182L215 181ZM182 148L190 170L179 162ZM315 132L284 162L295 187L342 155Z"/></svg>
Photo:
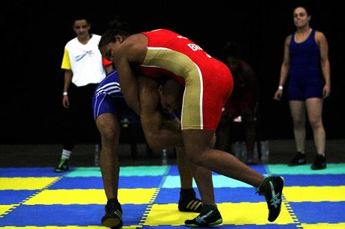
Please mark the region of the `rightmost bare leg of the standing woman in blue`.
<svg viewBox="0 0 345 229"><path fill-rule="evenodd" d="M306 100L308 119L313 129L315 146L319 155L324 155L326 144L326 133L322 124L322 105L323 100L320 98L309 98Z"/></svg>

